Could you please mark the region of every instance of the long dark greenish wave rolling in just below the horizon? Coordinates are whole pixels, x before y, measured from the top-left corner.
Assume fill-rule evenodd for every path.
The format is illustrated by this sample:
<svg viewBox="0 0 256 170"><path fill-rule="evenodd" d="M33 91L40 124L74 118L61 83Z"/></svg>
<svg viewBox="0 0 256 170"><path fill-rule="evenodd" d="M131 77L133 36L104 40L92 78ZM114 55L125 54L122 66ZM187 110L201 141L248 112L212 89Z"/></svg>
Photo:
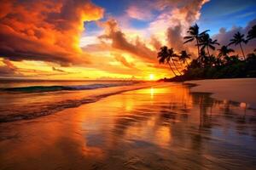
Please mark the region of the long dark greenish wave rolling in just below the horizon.
<svg viewBox="0 0 256 170"><path fill-rule="evenodd" d="M119 86L129 86L136 82L119 82L119 83L95 83L88 85L76 86L29 86L19 88L2 88L5 92L20 92L20 93L42 93L42 92L55 92L61 90L91 90L96 88L112 88Z"/></svg>

